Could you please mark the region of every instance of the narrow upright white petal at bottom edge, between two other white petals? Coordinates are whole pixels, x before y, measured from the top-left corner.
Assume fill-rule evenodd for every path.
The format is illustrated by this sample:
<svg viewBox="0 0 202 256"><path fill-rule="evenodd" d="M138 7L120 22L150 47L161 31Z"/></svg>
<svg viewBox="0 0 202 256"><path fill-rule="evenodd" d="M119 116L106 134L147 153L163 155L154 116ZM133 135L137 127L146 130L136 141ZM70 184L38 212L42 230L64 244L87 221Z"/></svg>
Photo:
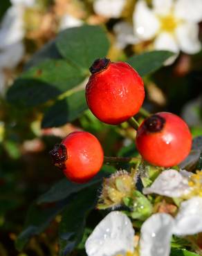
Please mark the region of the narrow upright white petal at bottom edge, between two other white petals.
<svg viewBox="0 0 202 256"><path fill-rule="evenodd" d="M174 219L165 213L149 217L141 228L140 256L168 256Z"/></svg>

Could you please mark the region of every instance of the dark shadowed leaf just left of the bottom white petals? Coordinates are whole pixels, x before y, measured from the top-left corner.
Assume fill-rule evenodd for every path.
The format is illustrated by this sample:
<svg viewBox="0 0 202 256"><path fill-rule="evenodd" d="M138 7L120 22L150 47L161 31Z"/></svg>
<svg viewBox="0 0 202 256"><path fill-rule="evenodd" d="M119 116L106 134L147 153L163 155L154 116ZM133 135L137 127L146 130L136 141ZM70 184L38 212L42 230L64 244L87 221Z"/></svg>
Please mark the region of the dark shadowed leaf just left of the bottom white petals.
<svg viewBox="0 0 202 256"><path fill-rule="evenodd" d="M97 201L97 187L88 188L73 198L62 214L59 224L59 255L68 255L80 243L84 234L86 214Z"/></svg>

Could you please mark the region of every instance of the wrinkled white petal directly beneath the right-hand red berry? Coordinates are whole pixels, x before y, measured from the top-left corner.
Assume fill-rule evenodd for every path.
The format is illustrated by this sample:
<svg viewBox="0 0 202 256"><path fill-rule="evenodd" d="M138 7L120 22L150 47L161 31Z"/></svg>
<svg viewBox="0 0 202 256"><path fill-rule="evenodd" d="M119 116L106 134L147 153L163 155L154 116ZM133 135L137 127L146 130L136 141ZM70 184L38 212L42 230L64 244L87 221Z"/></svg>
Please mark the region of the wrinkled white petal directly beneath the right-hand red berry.
<svg viewBox="0 0 202 256"><path fill-rule="evenodd" d="M189 191L188 179L172 169L162 172L151 187L143 189L144 194L156 193L169 197L180 197Z"/></svg>

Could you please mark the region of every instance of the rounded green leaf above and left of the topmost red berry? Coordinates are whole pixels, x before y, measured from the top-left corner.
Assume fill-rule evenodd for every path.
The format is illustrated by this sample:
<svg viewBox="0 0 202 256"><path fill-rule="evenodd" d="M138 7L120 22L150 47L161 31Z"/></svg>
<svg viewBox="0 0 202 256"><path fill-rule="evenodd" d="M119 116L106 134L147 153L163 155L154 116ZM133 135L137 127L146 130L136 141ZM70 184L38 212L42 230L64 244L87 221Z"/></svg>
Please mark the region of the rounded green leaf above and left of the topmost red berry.
<svg viewBox="0 0 202 256"><path fill-rule="evenodd" d="M100 26L85 25L62 31L56 39L56 46L69 62L89 71L95 59L107 55L109 40Z"/></svg>

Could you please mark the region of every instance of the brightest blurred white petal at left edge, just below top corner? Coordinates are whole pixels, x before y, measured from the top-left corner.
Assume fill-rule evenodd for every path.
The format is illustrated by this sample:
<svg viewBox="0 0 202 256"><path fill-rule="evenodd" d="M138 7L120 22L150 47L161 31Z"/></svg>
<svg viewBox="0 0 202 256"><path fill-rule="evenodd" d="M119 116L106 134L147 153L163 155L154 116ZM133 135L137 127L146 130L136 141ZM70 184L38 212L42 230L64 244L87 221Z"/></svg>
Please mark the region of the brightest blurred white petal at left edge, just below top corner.
<svg viewBox="0 0 202 256"><path fill-rule="evenodd" d="M24 10L19 6L10 7L3 17L0 28L0 48L15 44L24 37Z"/></svg>

